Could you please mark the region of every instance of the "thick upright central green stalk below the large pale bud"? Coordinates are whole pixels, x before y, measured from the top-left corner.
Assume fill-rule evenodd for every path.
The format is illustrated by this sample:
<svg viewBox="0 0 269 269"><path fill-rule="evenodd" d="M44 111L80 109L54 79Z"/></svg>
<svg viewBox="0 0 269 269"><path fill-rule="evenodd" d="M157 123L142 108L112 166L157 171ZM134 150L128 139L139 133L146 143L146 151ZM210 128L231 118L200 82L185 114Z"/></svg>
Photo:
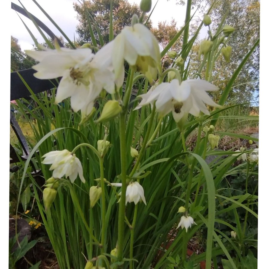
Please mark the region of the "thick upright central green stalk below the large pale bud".
<svg viewBox="0 0 269 269"><path fill-rule="evenodd" d="M131 86L132 87L132 86ZM121 196L118 219L118 258L123 259L124 219L125 219L125 196L126 196L126 137L125 137L125 114L120 114L120 164L121 164Z"/></svg>

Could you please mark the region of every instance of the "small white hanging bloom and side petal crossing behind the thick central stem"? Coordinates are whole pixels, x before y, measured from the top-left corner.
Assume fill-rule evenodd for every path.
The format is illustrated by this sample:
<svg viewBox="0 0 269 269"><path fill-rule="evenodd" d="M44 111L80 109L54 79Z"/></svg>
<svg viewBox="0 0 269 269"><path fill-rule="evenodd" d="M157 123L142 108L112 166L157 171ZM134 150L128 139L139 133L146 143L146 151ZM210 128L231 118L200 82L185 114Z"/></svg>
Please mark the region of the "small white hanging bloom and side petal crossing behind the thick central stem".
<svg viewBox="0 0 269 269"><path fill-rule="evenodd" d="M122 183L111 183L112 186L121 187ZM137 182L131 182L126 189L126 200L125 204L128 202L134 202L137 204L139 201L143 201L146 205L146 199L144 196L144 189L143 187Z"/></svg>

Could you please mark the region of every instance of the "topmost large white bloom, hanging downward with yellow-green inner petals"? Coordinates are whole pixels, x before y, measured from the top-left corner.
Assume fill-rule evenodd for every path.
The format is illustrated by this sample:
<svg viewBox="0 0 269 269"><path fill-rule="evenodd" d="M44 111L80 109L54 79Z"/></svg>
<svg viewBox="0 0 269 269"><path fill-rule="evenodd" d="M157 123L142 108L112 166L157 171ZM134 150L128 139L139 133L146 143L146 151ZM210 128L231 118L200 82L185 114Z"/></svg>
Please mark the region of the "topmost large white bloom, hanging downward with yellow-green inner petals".
<svg viewBox="0 0 269 269"><path fill-rule="evenodd" d="M112 63L116 77L121 76L124 60L136 71L145 74L150 83L156 79L157 70L161 73L158 41L143 24L124 27L114 39Z"/></svg>

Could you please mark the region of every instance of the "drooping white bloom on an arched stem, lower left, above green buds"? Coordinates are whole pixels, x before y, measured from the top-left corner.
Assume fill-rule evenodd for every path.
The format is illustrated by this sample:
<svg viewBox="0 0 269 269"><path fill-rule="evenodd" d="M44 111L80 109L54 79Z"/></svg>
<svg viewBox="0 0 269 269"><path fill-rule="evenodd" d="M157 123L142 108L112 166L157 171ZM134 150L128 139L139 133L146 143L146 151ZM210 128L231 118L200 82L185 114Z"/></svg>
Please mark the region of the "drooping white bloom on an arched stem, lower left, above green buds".
<svg viewBox="0 0 269 269"><path fill-rule="evenodd" d="M80 160L67 149L48 152L42 158L45 158L42 163L52 164L50 170L54 170L52 173L54 178L62 178L65 175L69 177L71 183L74 183L79 174L80 180L85 183Z"/></svg>

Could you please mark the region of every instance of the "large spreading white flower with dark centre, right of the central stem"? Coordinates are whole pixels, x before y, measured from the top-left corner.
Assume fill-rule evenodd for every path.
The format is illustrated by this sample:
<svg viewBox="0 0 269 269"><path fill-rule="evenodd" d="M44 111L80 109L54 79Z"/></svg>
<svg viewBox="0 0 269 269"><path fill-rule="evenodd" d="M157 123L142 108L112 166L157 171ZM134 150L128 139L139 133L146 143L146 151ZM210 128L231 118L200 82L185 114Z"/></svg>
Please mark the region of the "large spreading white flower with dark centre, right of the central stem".
<svg viewBox="0 0 269 269"><path fill-rule="evenodd" d="M138 97L142 98L142 101L135 109L149 103L152 104L156 100L156 111L162 116L172 111L176 122L179 122L188 113L196 117L200 115L200 111L210 115L205 103L214 107L222 107L206 93L206 91L216 90L218 87L206 80L184 80L179 84L179 81L174 79L170 83L161 83L151 92L139 95Z"/></svg>

